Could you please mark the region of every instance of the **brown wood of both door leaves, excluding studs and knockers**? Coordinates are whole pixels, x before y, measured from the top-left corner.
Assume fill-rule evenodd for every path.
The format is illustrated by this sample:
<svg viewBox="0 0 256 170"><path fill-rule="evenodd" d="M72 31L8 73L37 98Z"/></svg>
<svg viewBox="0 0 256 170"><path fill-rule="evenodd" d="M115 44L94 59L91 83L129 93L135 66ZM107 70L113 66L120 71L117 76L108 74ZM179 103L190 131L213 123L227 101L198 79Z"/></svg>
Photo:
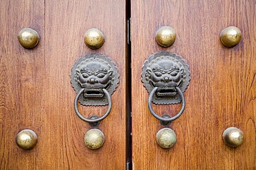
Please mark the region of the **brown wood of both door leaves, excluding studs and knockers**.
<svg viewBox="0 0 256 170"><path fill-rule="evenodd" d="M255 169L256 168L256 2L248 1L30 1L1 0L0 167L1 169ZM155 32L176 30L171 47L161 47ZM219 41L235 25L242 39L235 47ZM39 33L37 47L21 47L22 28ZM104 45L91 50L84 32L98 28ZM140 74L156 52L179 54L190 66L183 115L163 126L147 107L149 94ZM98 127L104 145L91 150L84 134L91 129L75 114L70 72L79 56L109 56L120 83L112 109ZM157 114L174 114L181 105L153 105ZM79 107L85 117L102 116L106 107ZM171 149L156 142L170 127ZM244 132L244 143L227 147L228 127ZM23 129L33 129L35 148L15 144Z"/></svg>

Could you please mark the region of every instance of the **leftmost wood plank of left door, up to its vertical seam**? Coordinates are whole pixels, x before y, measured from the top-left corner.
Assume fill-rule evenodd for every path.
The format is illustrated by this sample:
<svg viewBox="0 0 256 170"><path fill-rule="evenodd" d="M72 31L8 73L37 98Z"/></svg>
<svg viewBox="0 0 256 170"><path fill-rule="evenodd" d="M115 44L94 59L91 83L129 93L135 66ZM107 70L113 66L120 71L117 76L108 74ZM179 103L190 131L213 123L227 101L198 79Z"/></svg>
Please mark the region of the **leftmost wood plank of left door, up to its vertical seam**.
<svg viewBox="0 0 256 170"><path fill-rule="evenodd" d="M22 129L33 129L41 139L44 122L44 1L1 1L0 21L0 167L32 169L43 166L40 152L22 151L15 136ZM22 28L36 30L42 39L33 50L19 44ZM39 145L40 142L39 142Z"/></svg>

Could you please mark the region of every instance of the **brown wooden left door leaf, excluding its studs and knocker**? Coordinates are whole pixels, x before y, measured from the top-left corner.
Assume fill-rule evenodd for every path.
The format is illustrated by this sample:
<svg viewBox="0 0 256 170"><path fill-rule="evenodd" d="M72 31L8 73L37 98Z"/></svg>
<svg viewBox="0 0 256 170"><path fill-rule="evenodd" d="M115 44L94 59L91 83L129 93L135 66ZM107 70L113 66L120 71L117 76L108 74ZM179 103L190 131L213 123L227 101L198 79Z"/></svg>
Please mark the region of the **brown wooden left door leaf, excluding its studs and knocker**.
<svg viewBox="0 0 256 170"><path fill-rule="evenodd" d="M0 10L0 167L1 169L125 169L126 19L125 1L1 1ZM21 28L41 36L26 50L17 40ZM84 44L84 32L98 28L105 35L99 50ZM87 149L84 134L91 127L75 114L71 67L78 57L100 52L116 63L120 84L111 96L111 113L100 123L105 142ZM107 107L80 107L102 116ZM15 144L22 129L38 136L34 149Z"/></svg>

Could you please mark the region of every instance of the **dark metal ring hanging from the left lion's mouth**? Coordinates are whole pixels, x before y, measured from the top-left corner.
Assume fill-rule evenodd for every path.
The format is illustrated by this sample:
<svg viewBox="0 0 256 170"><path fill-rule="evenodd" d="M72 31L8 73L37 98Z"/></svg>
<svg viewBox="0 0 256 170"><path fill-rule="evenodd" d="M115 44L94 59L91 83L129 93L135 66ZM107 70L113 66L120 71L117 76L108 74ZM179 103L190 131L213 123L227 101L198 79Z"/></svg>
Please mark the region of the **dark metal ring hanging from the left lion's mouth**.
<svg viewBox="0 0 256 170"><path fill-rule="evenodd" d="M83 89L81 89L80 92L75 96L75 102L74 102L75 113L77 114L77 116L78 116L79 118L81 118L82 120L84 120L84 121L87 122L87 123L97 123L97 122L99 122L100 120L103 120L104 118L106 118L106 117L109 115L109 112L111 111L111 107L112 107L111 97L110 97L110 95L109 95L109 92L107 92L107 89L102 89L102 91L103 91L104 94L107 96L107 100L108 100L108 103L109 103L109 108L107 109L106 114L104 114L102 117L96 118L96 119L84 118L84 116L82 116L82 115L80 114L80 112L78 111L78 108L77 108L77 101L78 101L78 98L81 96L82 92L84 92L84 88L83 88Z"/></svg>

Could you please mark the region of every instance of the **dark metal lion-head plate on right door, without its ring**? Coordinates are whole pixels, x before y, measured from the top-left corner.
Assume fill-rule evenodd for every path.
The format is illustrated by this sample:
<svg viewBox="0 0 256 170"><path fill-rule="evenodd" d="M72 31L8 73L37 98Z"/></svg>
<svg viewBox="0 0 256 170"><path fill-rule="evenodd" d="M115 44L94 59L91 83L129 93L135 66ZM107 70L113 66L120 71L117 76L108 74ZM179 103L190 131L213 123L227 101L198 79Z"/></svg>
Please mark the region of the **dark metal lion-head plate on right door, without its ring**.
<svg viewBox="0 0 256 170"><path fill-rule="evenodd" d="M181 56L170 52L157 52L149 56L142 70L141 81L147 92L151 94L153 89L155 91L152 94L154 104L181 102L182 93L190 84L190 70Z"/></svg>

